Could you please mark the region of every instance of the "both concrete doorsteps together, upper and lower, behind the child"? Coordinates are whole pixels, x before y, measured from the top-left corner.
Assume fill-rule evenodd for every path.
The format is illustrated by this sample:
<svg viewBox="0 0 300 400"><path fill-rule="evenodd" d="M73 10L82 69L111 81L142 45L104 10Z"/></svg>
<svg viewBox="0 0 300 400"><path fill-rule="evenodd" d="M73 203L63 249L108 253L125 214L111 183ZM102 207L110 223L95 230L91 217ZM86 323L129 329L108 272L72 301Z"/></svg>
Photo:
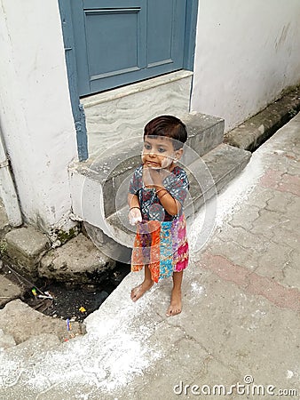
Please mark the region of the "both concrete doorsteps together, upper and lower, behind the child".
<svg viewBox="0 0 300 400"><path fill-rule="evenodd" d="M189 139L180 162L191 184L185 204L188 217L219 193L249 162L251 154L222 143L224 120L196 113L183 120ZM93 243L108 249L107 255L114 260L130 259L126 249L132 245L136 229L128 221L127 193L132 172L140 164L141 148L142 138L121 140L69 169L74 218L85 222Z"/></svg>

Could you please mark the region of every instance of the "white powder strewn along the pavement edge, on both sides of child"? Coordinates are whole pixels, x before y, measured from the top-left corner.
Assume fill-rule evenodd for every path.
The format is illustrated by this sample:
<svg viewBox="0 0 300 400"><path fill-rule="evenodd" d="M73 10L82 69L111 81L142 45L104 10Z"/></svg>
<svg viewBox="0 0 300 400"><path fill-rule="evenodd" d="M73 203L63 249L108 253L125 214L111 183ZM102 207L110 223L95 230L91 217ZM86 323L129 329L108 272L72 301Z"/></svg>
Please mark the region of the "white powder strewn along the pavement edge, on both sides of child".
<svg viewBox="0 0 300 400"><path fill-rule="evenodd" d="M203 207L197 212L189 228L192 253L200 250L197 244L199 236L204 233L205 240L202 240L201 245L205 244L214 229L222 226L247 200L264 172L263 156L264 151L260 152L258 149L240 176L217 196L217 203L212 204L210 208ZM133 304L128 299L129 293L125 294L125 290L128 291L138 279L140 277L132 277L131 274L126 276L118 287L117 295L113 292L101 308L89 316L88 333L83 338L71 340L59 348L40 354L36 364L35 356L31 359L20 356L17 359L0 351L0 389L19 382L19 386L24 388L24 393L28 388L32 388L38 398L58 385L71 388L81 381L91 384L91 390L114 390L128 384L135 376L142 375L162 354L159 351L155 352L155 349L146 343L146 337L150 337L154 332L154 324L149 328L138 328L143 325L140 318L146 315L149 301L154 300L155 291L151 293L151 299L150 296L145 296L138 304ZM192 283L195 297L202 296L203 291L202 286ZM289 378L291 373L288 372L287 375Z"/></svg>

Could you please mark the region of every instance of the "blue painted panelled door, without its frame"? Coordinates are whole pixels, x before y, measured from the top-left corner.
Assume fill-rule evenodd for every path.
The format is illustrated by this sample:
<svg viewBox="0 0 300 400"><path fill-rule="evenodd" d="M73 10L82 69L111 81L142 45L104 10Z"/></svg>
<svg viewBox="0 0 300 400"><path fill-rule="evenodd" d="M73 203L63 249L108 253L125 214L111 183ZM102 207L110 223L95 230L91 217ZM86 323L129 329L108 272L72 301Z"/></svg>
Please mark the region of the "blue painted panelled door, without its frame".
<svg viewBox="0 0 300 400"><path fill-rule="evenodd" d="M81 96L184 68L188 0L72 0Z"/></svg>

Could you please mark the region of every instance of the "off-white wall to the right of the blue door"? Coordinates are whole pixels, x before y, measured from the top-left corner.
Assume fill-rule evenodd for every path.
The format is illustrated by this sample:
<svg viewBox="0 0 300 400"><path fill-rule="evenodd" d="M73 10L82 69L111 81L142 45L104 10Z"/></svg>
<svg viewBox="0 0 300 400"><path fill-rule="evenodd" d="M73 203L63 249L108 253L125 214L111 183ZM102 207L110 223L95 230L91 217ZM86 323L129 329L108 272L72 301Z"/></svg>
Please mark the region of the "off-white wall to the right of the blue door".
<svg viewBox="0 0 300 400"><path fill-rule="evenodd" d="M299 0L199 0L192 110L228 131L298 83Z"/></svg>

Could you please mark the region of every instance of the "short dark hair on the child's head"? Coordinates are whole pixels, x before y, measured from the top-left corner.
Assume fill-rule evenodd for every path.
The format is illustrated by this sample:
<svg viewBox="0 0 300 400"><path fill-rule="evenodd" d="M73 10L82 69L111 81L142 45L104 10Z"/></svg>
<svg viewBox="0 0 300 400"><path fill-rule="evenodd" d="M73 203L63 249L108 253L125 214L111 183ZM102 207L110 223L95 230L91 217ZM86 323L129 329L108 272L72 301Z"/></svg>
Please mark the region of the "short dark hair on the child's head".
<svg viewBox="0 0 300 400"><path fill-rule="evenodd" d="M172 139L175 150L183 148L187 140L186 125L176 116L156 116L144 128L145 136L165 136Z"/></svg>

